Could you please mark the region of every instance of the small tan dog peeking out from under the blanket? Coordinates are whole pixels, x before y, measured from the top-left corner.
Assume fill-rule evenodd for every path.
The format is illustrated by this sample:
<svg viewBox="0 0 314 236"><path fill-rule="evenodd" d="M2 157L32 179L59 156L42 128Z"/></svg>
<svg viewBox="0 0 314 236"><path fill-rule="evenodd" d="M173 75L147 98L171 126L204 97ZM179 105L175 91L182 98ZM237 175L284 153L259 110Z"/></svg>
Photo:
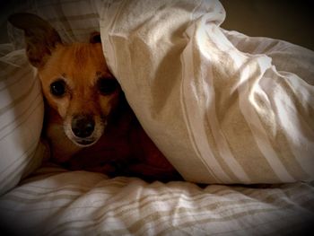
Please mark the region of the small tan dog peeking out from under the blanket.
<svg viewBox="0 0 314 236"><path fill-rule="evenodd" d="M51 162L111 177L181 179L144 132L110 73L99 32L89 42L65 44L45 20L31 13L9 17L24 31L26 55L38 71L45 100L43 138Z"/></svg>

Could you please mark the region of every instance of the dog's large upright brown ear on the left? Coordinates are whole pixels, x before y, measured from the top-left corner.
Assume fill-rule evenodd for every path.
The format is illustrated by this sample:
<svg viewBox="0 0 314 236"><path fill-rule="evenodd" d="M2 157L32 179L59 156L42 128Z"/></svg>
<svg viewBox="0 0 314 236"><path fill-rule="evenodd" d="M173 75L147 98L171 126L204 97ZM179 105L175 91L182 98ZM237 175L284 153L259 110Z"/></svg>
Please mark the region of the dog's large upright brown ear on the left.
<svg viewBox="0 0 314 236"><path fill-rule="evenodd" d="M57 31L35 14L14 13L8 20L24 31L26 53L32 66L44 66L57 44L62 43Z"/></svg>

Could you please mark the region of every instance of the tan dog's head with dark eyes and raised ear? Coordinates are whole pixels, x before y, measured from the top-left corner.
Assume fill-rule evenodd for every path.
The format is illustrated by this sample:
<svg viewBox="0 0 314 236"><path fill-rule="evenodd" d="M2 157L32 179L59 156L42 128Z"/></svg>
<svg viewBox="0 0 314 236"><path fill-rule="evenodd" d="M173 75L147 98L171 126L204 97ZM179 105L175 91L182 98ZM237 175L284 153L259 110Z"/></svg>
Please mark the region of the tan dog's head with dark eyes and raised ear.
<svg viewBox="0 0 314 236"><path fill-rule="evenodd" d="M38 68L48 105L62 118L74 144L94 144L103 134L120 87L103 56L100 35L89 43L65 45L51 25L31 13L13 14L9 21L24 31L26 53Z"/></svg>

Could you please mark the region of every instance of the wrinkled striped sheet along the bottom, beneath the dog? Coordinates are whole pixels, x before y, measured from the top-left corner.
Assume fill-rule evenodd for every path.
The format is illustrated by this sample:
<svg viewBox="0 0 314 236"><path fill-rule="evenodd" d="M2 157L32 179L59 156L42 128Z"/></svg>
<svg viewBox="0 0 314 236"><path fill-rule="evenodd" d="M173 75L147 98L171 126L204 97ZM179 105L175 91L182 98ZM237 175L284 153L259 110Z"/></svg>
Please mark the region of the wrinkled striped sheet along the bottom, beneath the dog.
<svg viewBox="0 0 314 236"><path fill-rule="evenodd" d="M148 184L40 169L0 197L13 235L296 235L311 228L314 188Z"/></svg>

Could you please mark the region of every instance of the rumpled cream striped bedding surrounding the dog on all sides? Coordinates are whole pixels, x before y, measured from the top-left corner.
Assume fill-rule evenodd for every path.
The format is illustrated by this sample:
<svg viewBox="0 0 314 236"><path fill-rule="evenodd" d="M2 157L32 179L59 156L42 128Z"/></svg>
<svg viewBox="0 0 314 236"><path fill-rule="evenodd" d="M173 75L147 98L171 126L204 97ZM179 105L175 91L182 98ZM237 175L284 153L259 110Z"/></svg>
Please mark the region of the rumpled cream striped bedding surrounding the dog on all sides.
<svg viewBox="0 0 314 236"><path fill-rule="evenodd" d="M222 29L218 1L26 1L65 42L100 31L110 70L186 181L48 161L22 31L0 46L0 229L7 235L302 235L314 223L314 53ZM92 156L91 156L92 158Z"/></svg>

